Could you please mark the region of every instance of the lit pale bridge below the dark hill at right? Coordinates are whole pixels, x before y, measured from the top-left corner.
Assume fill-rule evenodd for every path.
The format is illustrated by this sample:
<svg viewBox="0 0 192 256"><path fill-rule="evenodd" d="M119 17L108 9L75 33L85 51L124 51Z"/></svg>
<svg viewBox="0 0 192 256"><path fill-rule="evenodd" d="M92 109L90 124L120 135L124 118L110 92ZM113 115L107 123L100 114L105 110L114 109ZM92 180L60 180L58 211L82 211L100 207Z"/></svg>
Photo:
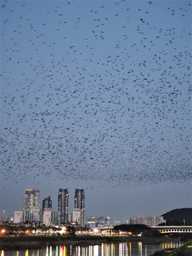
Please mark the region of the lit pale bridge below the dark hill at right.
<svg viewBox="0 0 192 256"><path fill-rule="evenodd" d="M192 233L192 226L152 226L160 233Z"/></svg>

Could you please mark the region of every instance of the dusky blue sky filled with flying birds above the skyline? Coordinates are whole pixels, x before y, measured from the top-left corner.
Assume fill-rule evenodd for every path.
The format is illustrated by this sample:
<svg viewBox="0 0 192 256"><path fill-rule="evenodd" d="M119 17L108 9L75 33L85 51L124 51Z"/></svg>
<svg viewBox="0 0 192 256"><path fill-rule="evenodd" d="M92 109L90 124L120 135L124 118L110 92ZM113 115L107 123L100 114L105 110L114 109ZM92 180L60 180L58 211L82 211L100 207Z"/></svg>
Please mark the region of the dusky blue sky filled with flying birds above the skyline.
<svg viewBox="0 0 192 256"><path fill-rule="evenodd" d="M111 222L191 207L191 1L0 9L0 215L32 188Z"/></svg>

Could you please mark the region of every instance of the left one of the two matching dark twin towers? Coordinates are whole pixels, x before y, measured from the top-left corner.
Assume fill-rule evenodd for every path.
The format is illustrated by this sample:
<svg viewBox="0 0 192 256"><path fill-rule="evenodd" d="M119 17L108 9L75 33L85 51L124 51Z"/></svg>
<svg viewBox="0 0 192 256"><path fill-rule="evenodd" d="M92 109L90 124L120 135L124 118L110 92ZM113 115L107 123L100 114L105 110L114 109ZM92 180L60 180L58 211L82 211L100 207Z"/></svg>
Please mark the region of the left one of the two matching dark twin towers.
<svg viewBox="0 0 192 256"><path fill-rule="evenodd" d="M58 195L58 218L59 224L68 222L68 201L69 195L67 189L59 189Z"/></svg>

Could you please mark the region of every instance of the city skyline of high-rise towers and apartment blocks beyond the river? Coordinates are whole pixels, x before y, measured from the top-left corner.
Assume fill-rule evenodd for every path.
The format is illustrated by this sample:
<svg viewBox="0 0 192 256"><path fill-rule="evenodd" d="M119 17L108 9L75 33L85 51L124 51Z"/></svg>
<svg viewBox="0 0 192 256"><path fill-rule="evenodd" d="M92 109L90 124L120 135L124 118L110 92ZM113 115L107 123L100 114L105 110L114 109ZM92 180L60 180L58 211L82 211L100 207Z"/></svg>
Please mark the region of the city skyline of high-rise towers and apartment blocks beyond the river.
<svg viewBox="0 0 192 256"><path fill-rule="evenodd" d="M26 189L26 195L31 195L31 194L33 195L33 193L38 193L38 202L40 202L40 190L38 188ZM33 199L33 197L32 197L32 199ZM114 224L114 223L120 224L119 220L111 221L110 217L86 216L85 215L84 189L75 189L74 199L75 199L74 208L72 211L70 211L68 209L68 202L69 202L68 190L67 189L59 189L58 212L57 212L55 209L52 208L51 196L48 196L47 198L44 198L42 200L42 208L41 208L41 207L39 207L40 203L36 204L36 205L34 203L34 205L32 205L32 206L30 205L30 203L28 203L28 207L25 207L26 198L24 195L23 208L18 207L19 210L15 210L14 215L16 214L16 220L18 221L19 218L21 217L21 212L23 210L23 211L25 211L23 217L29 218L29 221L32 220L32 219L30 219L31 218L30 213L33 213L33 216L34 216L34 218L37 218L37 221L42 222L42 218L44 218L43 216L45 215L45 219L48 218L45 221L45 223L51 223L50 218L51 219L53 218L55 221L58 220L58 222L57 221L56 222L59 225L70 223L70 221L72 221L72 222L76 221L78 223L81 223L83 226L85 226L85 224L89 226L89 225L91 225L91 223L96 223L96 222L97 222L97 224L99 224L101 226L109 226L111 223L112 224ZM33 201L35 201L35 200L33 200ZM29 200L29 202L30 202L30 200ZM80 206L79 208L75 207L75 206L77 206L77 202L78 202L78 205ZM81 208L81 206L84 208ZM172 209L172 210L174 210L174 209ZM44 212L44 214L43 214L43 212ZM80 212L82 212L82 213L84 212L83 216L79 215L79 214L81 214ZM57 213L58 213L58 216L56 217ZM163 214L164 213L167 213L167 211L163 212ZM3 211L3 216L1 216L1 218L3 218L3 219L9 218L10 219L11 215L4 216L4 214L5 214L5 211ZM39 215L41 215L41 217ZM71 215L72 219L69 220L68 215ZM78 217L83 218L82 221L79 221L77 219L75 220L75 215L76 215L76 218L78 218ZM61 216L61 217L59 217L59 216ZM39 217L40 217L40 219L39 219ZM127 219L128 220L126 221L126 224L128 224L128 223L130 223L130 224L145 224L148 226L157 226L159 223L164 222L163 217L161 215L158 215L158 216L139 215L139 216L128 217ZM33 219L33 220L36 220L36 219ZM44 221L43 221L43 223L44 223ZM81 224L79 224L79 225L81 225Z"/></svg>

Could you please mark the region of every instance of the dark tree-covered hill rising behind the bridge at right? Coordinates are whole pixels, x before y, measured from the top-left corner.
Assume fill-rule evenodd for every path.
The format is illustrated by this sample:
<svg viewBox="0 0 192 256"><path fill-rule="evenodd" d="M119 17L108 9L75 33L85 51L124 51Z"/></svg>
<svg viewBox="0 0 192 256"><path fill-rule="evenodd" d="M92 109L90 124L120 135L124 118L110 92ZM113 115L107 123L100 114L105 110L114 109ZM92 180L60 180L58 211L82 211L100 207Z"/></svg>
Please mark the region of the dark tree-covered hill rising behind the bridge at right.
<svg viewBox="0 0 192 256"><path fill-rule="evenodd" d="M192 225L192 208L181 208L181 209L174 209L168 213L165 213L163 215L164 220L166 220L166 223L168 222L172 223L172 220L175 222L183 222L185 220L185 225ZM173 224L174 224L173 222Z"/></svg>

